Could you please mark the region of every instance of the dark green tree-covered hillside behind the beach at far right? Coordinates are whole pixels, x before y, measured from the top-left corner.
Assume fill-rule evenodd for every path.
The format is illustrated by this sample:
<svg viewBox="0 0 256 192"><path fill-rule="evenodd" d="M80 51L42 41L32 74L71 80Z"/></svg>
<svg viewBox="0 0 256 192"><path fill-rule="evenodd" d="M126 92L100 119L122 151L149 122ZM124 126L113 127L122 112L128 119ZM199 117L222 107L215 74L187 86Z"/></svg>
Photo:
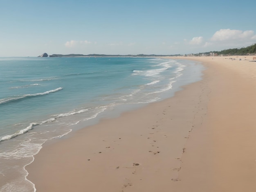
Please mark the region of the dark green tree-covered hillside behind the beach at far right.
<svg viewBox="0 0 256 192"><path fill-rule="evenodd" d="M210 53L215 53L218 55L248 55L248 54L256 54L256 43L254 45L242 48L235 49L224 49L222 51L210 51L206 53L195 54L196 56L200 56L202 54L209 55Z"/></svg>

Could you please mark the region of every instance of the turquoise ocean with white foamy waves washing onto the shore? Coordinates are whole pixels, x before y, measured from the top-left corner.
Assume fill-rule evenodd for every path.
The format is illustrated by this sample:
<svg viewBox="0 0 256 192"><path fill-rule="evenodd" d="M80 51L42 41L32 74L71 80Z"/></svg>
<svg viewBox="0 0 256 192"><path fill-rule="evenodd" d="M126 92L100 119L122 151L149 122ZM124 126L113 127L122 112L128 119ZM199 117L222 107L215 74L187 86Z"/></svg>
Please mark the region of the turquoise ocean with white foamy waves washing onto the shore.
<svg viewBox="0 0 256 192"><path fill-rule="evenodd" d="M25 167L46 141L169 98L202 70L169 58L0 58L0 191L36 191Z"/></svg>

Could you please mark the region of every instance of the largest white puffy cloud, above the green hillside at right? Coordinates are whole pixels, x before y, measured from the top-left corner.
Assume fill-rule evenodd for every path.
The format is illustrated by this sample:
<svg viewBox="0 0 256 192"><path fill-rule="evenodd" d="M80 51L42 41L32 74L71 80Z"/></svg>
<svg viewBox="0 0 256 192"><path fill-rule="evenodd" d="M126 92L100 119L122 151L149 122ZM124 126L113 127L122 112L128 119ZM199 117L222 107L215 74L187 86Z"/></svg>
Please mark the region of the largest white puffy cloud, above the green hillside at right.
<svg viewBox="0 0 256 192"><path fill-rule="evenodd" d="M211 41L229 41L229 40L250 40L253 39L254 31L241 31L241 30L231 30L231 29L220 29L216 31Z"/></svg>

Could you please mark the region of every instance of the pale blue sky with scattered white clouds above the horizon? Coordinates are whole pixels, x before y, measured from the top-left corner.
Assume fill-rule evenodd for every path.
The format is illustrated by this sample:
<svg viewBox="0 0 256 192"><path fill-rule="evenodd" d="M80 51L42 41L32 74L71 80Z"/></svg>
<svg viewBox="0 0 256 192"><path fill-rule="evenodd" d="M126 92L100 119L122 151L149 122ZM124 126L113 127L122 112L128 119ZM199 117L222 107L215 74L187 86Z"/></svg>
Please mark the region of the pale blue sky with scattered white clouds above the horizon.
<svg viewBox="0 0 256 192"><path fill-rule="evenodd" d="M0 57L190 54L256 43L256 0L0 0Z"/></svg>

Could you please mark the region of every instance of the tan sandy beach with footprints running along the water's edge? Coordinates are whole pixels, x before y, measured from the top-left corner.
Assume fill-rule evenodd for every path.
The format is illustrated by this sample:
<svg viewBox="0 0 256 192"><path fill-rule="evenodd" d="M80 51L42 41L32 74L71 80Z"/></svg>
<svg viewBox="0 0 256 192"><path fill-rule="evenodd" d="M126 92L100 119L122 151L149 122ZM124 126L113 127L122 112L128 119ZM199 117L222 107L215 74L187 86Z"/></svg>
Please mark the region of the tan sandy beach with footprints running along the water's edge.
<svg viewBox="0 0 256 192"><path fill-rule="evenodd" d="M186 59L203 80L43 145L26 167L37 191L256 191L256 62Z"/></svg>

